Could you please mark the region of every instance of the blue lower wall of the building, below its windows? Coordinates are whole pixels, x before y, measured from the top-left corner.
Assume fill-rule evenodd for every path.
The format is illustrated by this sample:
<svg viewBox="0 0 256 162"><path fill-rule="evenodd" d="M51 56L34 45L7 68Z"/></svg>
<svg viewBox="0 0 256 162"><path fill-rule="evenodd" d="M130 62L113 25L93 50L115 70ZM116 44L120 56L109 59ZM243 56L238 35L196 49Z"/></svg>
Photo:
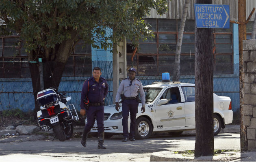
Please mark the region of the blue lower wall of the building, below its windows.
<svg viewBox="0 0 256 162"><path fill-rule="evenodd" d="M236 64L238 66L238 64ZM72 100L69 104L74 104L76 109L80 111L80 94L82 84L89 77L63 77L59 85L59 92L68 92L67 96L71 96ZM140 77L143 85L152 84L154 81L161 81L159 76ZM182 76L181 82L195 83L194 76ZM22 109L23 111L32 111L34 109L34 99L32 94L31 79L0 79L1 90L3 92L30 92L30 93L0 93L0 109ZM113 82L112 79L107 79L109 85L109 93L106 98L106 105L113 103ZM232 100L232 110L239 111L239 77L237 75L215 75L213 79L213 91L219 96L228 96ZM15 85L15 86L13 86Z"/></svg>

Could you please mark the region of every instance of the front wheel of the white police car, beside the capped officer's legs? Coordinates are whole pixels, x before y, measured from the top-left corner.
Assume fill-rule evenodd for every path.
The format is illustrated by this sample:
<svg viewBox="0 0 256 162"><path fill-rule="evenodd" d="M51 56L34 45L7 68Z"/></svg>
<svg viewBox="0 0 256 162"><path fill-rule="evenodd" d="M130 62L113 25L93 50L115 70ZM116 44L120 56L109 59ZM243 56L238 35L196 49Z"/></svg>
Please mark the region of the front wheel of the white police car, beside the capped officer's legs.
<svg viewBox="0 0 256 162"><path fill-rule="evenodd" d="M150 121L145 117L139 117L136 120L135 139L148 139L152 133Z"/></svg>

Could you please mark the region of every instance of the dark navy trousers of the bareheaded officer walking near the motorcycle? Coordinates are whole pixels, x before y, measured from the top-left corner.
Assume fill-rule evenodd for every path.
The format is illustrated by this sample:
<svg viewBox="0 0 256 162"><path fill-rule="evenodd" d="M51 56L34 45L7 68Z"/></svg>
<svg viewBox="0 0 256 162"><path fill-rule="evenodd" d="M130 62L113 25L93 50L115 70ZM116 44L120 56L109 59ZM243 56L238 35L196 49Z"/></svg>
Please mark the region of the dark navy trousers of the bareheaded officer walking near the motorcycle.
<svg viewBox="0 0 256 162"><path fill-rule="evenodd" d="M90 106L86 111L87 124L85 126L85 132L90 132L94 126L95 117L97 120L98 134L104 132L104 106Z"/></svg>

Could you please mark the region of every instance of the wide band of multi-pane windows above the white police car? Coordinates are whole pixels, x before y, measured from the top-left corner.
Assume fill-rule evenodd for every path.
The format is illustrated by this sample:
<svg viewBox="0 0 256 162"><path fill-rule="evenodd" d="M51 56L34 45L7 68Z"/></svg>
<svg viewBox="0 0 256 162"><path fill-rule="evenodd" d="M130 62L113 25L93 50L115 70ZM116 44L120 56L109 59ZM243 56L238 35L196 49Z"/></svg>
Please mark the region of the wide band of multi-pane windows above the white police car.
<svg viewBox="0 0 256 162"><path fill-rule="evenodd" d="M129 59L135 48L127 40L127 68L137 67L139 75L161 75L162 72L172 74L180 21L145 19L145 22L152 26L150 30L153 30L155 37L144 42L139 41L139 48L133 62ZM230 25L229 29L214 29L213 39L215 74L232 73L232 66L230 66L233 62L232 26ZM180 75L194 74L194 64L195 21L186 20L180 56Z"/></svg>

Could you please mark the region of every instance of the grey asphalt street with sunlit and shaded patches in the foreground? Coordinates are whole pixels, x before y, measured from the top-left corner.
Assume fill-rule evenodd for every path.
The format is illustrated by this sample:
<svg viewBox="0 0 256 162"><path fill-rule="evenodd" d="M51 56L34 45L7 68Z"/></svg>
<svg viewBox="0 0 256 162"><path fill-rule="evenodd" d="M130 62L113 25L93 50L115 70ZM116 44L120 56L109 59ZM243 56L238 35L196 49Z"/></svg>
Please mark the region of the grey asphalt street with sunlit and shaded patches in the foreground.
<svg viewBox="0 0 256 162"><path fill-rule="evenodd" d="M225 130L226 129L226 130ZM215 136L214 149L240 149L239 126L228 126L223 133ZM75 132L82 131L82 127ZM82 147L80 139L60 142L52 141L53 136L22 135L0 138L0 161L198 161L192 157L173 154L174 151L193 150L195 134L183 132L174 137L168 134L155 134L146 140L121 142L122 136L105 139L105 150L97 149L98 139L89 138L87 147ZM222 153L219 157L203 157L199 161L256 161L256 152ZM165 158L163 160L163 158Z"/></svg>

